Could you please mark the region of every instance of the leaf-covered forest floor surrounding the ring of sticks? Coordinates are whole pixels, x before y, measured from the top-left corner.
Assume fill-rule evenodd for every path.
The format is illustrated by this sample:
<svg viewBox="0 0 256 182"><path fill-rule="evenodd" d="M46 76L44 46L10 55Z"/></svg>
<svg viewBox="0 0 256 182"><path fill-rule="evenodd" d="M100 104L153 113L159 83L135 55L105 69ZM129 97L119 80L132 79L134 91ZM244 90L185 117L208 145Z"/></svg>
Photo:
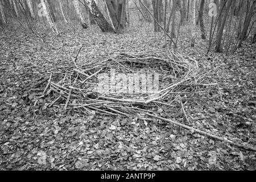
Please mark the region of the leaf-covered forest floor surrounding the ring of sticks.
<svg viewBox="0 0 256 182"><path fill-rule="evenodd" d="M79 61L114 49L159 49L162 33L148 24L125 34L63 30L61 36L38 36L15 28L0 32L0 170L255 170L255 152L214 140L167 122L134 118L84 117L52 113L34 102L43 92L47 71L71 61L82 47ZM161 39L162 38L162 39ZM220 93L185 107L189 126L208 129L235 142L256 146L256 44L245 43L236 53L207 52L207 40L181 34L175 51L192 57L220 87ZM221 95L221 97L220 97ZM180 110L172 116L184 122Z"/></svg>

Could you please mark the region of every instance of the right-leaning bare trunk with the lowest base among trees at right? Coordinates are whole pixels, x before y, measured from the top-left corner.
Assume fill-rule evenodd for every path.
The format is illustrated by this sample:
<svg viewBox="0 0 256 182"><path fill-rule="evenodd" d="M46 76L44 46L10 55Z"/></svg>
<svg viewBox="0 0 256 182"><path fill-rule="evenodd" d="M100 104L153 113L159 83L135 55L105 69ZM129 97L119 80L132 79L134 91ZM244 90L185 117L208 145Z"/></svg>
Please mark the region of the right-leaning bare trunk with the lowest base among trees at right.
<svg viewBox="0 0 256 182"><path fill-rule="evenodd" d="M226 5L226 12L222 18L221 27L217 34L216 52L222 52L221 39L222 39L222 35L223 35L223 30L224 30L224 27L226 24L226 18L229 14L229 9L230 9L231 3L232 3L232 0L228 0L228 3Z"/></svg>

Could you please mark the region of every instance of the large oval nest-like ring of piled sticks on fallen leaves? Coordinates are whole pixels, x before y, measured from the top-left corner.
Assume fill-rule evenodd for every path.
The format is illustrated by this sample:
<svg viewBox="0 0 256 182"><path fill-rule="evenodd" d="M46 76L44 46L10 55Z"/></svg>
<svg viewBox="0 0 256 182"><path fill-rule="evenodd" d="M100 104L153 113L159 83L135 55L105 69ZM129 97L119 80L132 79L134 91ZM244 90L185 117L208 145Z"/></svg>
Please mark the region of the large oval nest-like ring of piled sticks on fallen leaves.
<svg viewBox="0 0 256 182"><path fill-rule="evenodd" d="M129 117L135 114L143 117L144 112L153 113L160 105L171 107L180 98L202 94L207 86L214 85L205 77L196 60L185 59L170 51L115 51L79 60L77 56L73 57L68 63L51 70L44 90L44 96L49 98L47 107L56 106L88 115L100 113ZM122 89L119 89L116 79L110 84L113 70L115 77L119 75L119 78L158 73L157 84L152 83L154 92L145 92L147 90L142 89L142 80L139 79L137 89L129 90L129 84L123 89L123 85L126 86L123 82ZM105 80L105 85L100 85L102 75L110 78ZM127 80L129 78L119 79ZM154 81L154 78L149 80ZM113 84L115 88L112 88ZM101 87L97 87L99 85ZM134 84L130 86L132 88ZM104 92L98 88L105 88Z"/></svg>

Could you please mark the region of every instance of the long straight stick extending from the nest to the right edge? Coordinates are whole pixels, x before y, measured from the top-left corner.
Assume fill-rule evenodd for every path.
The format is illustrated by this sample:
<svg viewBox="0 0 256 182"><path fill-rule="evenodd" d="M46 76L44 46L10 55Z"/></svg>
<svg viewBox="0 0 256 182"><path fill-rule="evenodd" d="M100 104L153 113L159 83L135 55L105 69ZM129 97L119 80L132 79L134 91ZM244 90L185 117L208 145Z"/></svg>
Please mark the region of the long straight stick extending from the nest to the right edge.
<svg viewBox="0 0 256 182"><path fill-rule="evenodd" d="M217 136L212 135L212 134L209 134L209 133L207 133L207 132L205 132L205 131L201 131L201 130L198 130L198 129L194 129L193 127L190 127L190 126L183 125L183 124L181 124L181 123L172 121L171 119L166 119L166 118L158 117L158 116L156 116L156 115L152 115L152 114L149 114L149 113L145 113L145 114L147 114L147 115L150 116L150 117L157 118L157 119L161 119L162 121L170 122L170 123L172 123L172 124L174 124L174 125L184 127L185 129L196 131L197 133L206 135L206 136L208 136L208 137L212 137L212 138L221 140L222 142L226 142L226 143L229 143L229 144L233 144L234 146L237 146L237 147L240 147L240 148L244 148L244 149L246 149L246 150L256 151L256 148L255 148L255 147L252 147L252 146L243 146L242 144L234 143L234 142L232 142L232 141L230 141L230 140L228 140L228 139L221 138L221 137L217 137Z"/></svg>

